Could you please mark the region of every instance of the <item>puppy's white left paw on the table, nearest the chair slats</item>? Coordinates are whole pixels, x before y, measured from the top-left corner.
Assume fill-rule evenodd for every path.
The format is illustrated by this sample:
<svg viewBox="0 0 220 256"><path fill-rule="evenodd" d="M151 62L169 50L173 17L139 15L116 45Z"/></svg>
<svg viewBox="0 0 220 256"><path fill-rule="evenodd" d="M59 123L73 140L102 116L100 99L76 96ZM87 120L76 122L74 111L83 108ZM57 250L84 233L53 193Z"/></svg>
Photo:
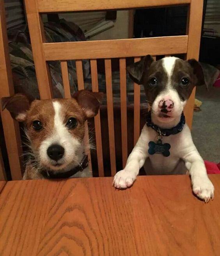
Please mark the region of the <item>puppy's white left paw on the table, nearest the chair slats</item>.
<svg viewBox="0 0 220 256"><path fill-rule="evenodd" d="M133 171L121 170L115 174L113 186L119 189L130 187L136 180L137 175Z"/></svg>

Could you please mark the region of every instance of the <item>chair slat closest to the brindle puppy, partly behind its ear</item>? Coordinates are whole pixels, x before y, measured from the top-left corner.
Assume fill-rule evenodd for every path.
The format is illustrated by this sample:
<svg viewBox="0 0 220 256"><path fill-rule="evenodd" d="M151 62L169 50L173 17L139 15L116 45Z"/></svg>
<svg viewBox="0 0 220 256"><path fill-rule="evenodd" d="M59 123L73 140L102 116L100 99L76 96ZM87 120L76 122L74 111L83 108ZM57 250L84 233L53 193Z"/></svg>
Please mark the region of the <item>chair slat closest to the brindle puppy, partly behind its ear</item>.
<svg viewBox="0 0 220 256"><path fill-rule="evenodd" d="M135 58L135 62L140 58ZM140 85L134 83L134 146L140 136Z"/></svg>

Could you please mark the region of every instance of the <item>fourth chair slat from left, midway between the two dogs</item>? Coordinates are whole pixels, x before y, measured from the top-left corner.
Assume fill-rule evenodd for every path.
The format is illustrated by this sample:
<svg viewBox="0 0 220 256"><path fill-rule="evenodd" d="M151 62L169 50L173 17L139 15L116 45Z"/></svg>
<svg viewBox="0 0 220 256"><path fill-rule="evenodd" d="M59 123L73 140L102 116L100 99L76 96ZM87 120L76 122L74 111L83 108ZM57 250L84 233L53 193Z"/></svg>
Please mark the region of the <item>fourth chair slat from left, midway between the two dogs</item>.
<svg viewBox="0 0 220 256"><path fill-rule="evenodd" d="M105 59L105 79L106 79L106 97L107 97L107 111L108 111L109 150L110 150L111 174L113 176L116 173L116 160L115 160L115 132L114 132L113 96L112 96L111 59Z"/></svg>

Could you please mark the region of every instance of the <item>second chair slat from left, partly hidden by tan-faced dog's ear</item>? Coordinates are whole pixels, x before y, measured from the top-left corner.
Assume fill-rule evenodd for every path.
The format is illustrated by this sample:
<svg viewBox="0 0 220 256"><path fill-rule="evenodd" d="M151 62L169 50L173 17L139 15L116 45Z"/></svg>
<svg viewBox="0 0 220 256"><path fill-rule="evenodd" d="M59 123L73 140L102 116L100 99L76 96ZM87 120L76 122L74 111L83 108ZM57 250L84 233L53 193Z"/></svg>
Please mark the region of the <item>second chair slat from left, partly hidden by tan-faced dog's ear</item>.
<svg viewBox="0 0 220 256"><path fill-rule="evenodd" d="M83 79L82 60L76 60L76 76L77 76L78 90L84 90L85 87L84 87L84 79ZM89 129L88 129L87 121L85 122L84 143L85 143L85 145L89 146ZM89 169L90 169L90 171L92 171L90 147L86 148L85 151L89 158Z"/></svg>

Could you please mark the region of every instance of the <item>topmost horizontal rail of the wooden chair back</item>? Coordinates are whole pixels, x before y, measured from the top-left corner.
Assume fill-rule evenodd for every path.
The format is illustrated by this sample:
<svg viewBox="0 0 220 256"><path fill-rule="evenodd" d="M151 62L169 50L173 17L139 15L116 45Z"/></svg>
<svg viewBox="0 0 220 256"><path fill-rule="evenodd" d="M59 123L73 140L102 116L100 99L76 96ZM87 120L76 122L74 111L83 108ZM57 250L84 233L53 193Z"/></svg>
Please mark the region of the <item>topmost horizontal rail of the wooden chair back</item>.
<svg viewBox="0 0 220 256"><path fill-rule="evenodd" d="M64 12L64 11L92 11L108 9L128 9L140 7L154 7L175 4L189 4L190 0L126 0L126 1L102 1L102 0L37 0L40 13Z"/></svg>

